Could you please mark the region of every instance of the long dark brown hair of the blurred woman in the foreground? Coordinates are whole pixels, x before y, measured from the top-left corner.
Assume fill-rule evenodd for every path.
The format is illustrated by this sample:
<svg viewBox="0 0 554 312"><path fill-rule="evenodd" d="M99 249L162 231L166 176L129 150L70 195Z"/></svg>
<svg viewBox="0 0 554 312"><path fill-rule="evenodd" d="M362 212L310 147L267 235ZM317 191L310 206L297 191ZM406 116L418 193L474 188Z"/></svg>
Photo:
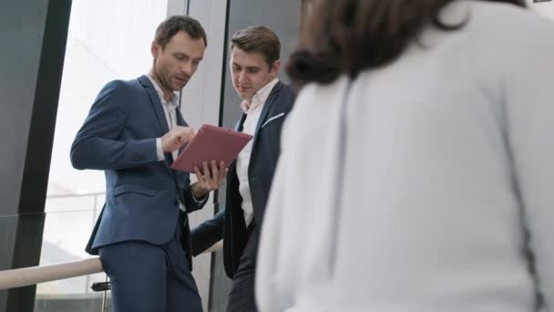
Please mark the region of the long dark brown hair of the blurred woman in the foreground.
<svg viewBox="0 0 554 312"><path fill-rule="evenodd" d="M424 26L444 30L440 10L456 0L318 0L306 16L301 44L292 53L287 72L292 84L330 83L339 75L355 77L400 56ZM524 0L493 0L525 6Z"/></svg>

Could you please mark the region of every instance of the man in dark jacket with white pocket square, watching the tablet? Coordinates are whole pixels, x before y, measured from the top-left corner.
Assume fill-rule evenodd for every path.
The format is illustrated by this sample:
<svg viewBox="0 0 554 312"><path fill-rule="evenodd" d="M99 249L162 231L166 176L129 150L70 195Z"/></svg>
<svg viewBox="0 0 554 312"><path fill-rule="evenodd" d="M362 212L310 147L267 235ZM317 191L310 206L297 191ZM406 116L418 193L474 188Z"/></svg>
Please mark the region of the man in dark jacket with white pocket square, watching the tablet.
<svg viewBox="0 0 554 312"><path fill-rule="evenodd" d="M231 38L232 83L243 99L236 130L253 140L229 167L226 207L192 231L193 254L223 238L225 271L232 278L227 311L256 311L254 276L258 238L280 153L282 122L292 89L277 78L281 43L271 29L251 26Z"/></svg>

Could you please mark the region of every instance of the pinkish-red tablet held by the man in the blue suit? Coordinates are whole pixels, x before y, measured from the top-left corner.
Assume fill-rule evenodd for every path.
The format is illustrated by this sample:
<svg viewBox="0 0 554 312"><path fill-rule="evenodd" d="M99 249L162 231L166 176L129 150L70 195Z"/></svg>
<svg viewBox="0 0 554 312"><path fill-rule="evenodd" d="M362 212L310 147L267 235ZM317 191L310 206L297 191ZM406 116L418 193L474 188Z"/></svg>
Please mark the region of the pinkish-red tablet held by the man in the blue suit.
<svg viewBox="0 0 554 312"><path fill-rule="evenodd" d="M251 139L250 134L208 124L202 125L173 161L171 168L182 172L194 172L194 166L197 166L202 172L202 162L211 160L218 163L223 161L229 166Z"/></svg>

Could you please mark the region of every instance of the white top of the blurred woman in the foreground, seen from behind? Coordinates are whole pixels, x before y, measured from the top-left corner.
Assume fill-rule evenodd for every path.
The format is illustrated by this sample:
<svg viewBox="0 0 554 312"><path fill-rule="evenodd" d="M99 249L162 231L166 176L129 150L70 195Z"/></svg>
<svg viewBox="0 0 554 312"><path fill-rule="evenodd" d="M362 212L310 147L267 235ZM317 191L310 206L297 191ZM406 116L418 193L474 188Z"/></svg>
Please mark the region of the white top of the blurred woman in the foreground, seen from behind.
<svg viewBox="0 0 554 312"><path fill-rule="evenodd" d="M538 292L554 310L554 24L487 1L440 20L467 23L299 94L261 312L534 312Z"/></svg>

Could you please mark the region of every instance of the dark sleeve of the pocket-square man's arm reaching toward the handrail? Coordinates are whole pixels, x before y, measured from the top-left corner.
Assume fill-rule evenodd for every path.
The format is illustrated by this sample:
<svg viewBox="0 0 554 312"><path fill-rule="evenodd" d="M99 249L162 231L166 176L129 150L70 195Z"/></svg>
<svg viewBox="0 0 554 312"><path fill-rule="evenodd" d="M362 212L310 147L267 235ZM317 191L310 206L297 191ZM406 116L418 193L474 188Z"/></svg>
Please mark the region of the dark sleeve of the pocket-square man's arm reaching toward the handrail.
<svg viewBox="0 0 554 312"><path fill-rule="evenodd" d="M210 220L206 220L192 229L190 231L192 255L200 255L213 244L221 241L223 238L223 224L225 224L225 209L222 209Z"/></svg>

